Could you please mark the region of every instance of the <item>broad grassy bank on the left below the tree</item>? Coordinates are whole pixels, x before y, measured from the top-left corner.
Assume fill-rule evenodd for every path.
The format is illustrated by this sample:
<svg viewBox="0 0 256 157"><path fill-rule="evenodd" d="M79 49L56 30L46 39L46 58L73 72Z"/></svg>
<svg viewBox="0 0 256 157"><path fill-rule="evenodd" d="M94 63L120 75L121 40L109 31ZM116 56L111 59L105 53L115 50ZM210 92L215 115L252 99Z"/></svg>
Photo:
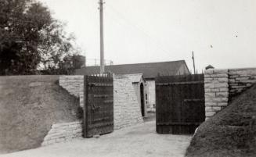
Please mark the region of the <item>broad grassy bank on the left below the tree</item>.
<svg viewBox="0 0 256 157"><path fill-rule="evenodd" d="M52 123L78 120L78 98L58 78L0 77L0 153L36 148Z"/></svg>

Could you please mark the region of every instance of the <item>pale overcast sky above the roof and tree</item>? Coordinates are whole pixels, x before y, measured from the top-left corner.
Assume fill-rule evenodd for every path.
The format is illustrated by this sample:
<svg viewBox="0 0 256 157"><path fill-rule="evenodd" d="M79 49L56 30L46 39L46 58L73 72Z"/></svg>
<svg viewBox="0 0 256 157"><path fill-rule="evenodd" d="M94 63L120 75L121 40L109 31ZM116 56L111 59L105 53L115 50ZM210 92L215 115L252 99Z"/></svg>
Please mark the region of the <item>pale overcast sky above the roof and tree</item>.
<svg viewBox="0 0 256 157"><path fill-rule="evenodd" d="M67 24L93 64L99 59L98 0L39 0ZM201 72L256 67L254 0L105 0L105 59L114 64L186 60ZM108 62L108 61L106 61Z"/></svg>

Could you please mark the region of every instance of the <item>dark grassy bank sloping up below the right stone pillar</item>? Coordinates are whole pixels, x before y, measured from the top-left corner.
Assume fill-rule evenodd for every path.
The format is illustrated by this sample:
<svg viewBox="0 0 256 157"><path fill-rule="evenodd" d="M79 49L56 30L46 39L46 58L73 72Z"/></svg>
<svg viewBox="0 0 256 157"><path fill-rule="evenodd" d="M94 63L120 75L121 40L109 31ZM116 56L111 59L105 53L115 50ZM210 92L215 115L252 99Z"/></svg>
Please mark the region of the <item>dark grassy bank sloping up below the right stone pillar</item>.
<svg viewBox="0 0 256 157"><path fill-rule="evenodd" d="M256 156L256 85L198 128L186 156Z"/></svg>

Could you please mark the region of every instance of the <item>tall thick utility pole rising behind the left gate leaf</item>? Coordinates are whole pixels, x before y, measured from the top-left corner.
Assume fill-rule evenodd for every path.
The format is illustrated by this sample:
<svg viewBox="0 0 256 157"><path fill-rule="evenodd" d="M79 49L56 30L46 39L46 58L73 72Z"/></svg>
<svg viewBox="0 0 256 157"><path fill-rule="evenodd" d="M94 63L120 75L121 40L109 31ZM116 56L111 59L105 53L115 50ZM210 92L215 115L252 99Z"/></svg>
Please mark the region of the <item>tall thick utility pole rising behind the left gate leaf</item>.
<svg viewBox="0 0 256 157"><path fill-rule="evenodd" d="M103 32L103 0L99 0L99 23L100 23L100 73L105 72L104 62L104 32Z"/></svg>

